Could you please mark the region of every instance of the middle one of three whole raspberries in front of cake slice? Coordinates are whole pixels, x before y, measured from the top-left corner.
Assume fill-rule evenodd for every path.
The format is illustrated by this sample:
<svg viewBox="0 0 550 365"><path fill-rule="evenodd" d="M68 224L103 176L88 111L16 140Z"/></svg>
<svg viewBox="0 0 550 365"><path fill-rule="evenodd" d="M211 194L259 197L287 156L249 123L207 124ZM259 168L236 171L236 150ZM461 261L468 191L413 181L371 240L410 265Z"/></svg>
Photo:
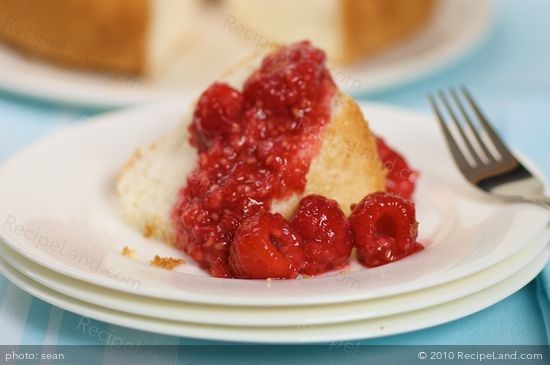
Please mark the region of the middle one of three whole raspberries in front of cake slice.
<svg viewBox="0 0 550 365"><path fill-rule="evenodd" d="M302 199L291 226L304 242L302 272L318 275L346 266L352 249L346 216L334 200L319 195Z"/></svg>

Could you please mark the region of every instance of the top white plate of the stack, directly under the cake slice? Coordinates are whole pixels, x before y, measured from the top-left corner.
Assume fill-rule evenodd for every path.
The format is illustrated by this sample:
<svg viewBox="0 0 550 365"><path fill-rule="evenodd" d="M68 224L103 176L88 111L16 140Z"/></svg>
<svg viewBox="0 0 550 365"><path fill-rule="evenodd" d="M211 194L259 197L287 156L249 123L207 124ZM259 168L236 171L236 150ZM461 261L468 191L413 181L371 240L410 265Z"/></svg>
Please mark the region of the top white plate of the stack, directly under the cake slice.
<svg viewBox="0 0 550 365"><path fill-rule="evenodd" d="M499 203L459 175L432 118L380 105L362 106L373 128L421 170L420 239L426 249L399 262L307 280L228 280L193 260L174 271L153 268L177 250L128 227L114 180L134 149L180 122L180 103L144 106L70 127L0 167L0 236L26 258L66 276L132 294L215 305L275 306L357 301L459 279L510 257L533 240L549 212ZM135 248L140 260L121 255Z"/></svg>

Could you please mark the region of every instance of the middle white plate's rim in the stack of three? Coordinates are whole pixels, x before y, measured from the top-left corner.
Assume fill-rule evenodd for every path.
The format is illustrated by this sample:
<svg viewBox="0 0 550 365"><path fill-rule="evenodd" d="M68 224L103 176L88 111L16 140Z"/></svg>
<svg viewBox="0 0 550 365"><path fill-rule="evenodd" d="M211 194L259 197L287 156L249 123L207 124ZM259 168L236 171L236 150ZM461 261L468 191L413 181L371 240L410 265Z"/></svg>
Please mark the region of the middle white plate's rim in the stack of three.
<svg viewBox="0 0 550 365"><path fill-rule="evenodd" d="M357 302L351 302L351 303L335 303L335 304L327 304L327 305L321 305L321 306L302 306L302 307L272 307L272 308L266 308L266 307L240 307L239 309L245 309L247 310L247 313L250 313L250 311L260 311L262 312L261 315L258 315L256 313L257 317L261 317L262 320L269 319L269 321L266 321L264 323L258 323L257 320L252 321L250 318L247 318L245 322L231 322L228 320L223 320L220 322L220 311L232 311L233 308L236 308L234 306L223 306L223 305L217 305L217 306L209 306L209 305L199 305L196 303L185 303L185 302L174 302L174 301L168 301L164 299L152 299L155 301L160 302L172 302L174 305L177 305L178 307L185 308L185 310L182 311L186 312L189 311L189 305L194 307L199 307L199 309L195 308L196 312L204 311L208 307L207 311L211 312L208 316L205 316L206 319L197 320L196 318L192 319L186 319L186 318L176 318L171 313L164 314L163 311L153 311L152 308L154 306L154 303L151 303L150 308L148 310L137 310L136 306L122 306L122 308L126 309L117 309L118 311L133 314L133 315L140 315L140 316L146 316L151 318L159 318L164 320L173 320L173 321L183 321L183 322L190 322L190 323L198 323L198 324L214 324L214 325L227 325L227 326L246 326L246 327L284 327L289 326L290 324L287 324L285 321L289 321L288 319L288 313L285 315L285 311L298 311L298 312L305 312L302 313L302 317L300 318L306 318L306 316L311 313L312 307L324 307L327 312L334 312L335 307L345 307L346 310L344 311L343 308L339 308L340 311L344 311L347 314L349 314L349 307L358 307L361 306L361 312L364 312L364 314L355 314L353 316L347 316L343 317L339 316L337 318L333 319L327 319L325 315L322 315L321 313L317 313L316 316L322 316L322 320L318 319L304 319L304 322L307 322L308 325L320 325L320 324L331 324L331 323L344 323L344 322L351 322L351 321L357 321L357 320L367 320L367 319L374 319L374 318L380 318L380 317L386 317L396 314L402 314L402 313L408 313L419 309L425 309L430 308L432 306L445 304L448 302L451 302L453 300L459 299L464 296L468 296L470 294L477 293L479 291L482 291L492 285L495 285L501 281L504 281L508 279L509 277L513 276L515 273L519 272L521 269L523 269L529 262L533 261L535 257L537 257L538 254L544 251L545 245L547 242L547 239L550 238L550 228L545 229L539 236L537 236L532 242L530 242L527 246L522 248L519 252L512 255L511 257L503 260L502 262L499 262L491 267L488 267L486 269L481 270L480 272L474 273L471 276L467 276L461 279L457 279L455 281L451 281L445 284L441 284L439 286L434 286L426 289L421 289L419 291L409 292L409 293L403 293L403 294L397 294L390 297L383 297L375 299L375 301L380 302L380 305L383 305L382 303L384 301L387 301L388 298L398 298L400 301L406 301L408 303L418 303L418 295L423 296L430 296L434 299L424 299L423 304L407 308L398 309L397 311L387 311L382 312L381 314L373 314L373 309L369 309L364 307L365 304L368 304L369 300L366 301L357 301ZM522 252L523 251L523 252ZM528 251L528 255L525 257L522 256L525 255L525 251ZM113 289L108 289L100 286L96 286L94 284L85 283L86 285L93 286L93 288L90 288L90 290L96 290L99 289L100 291L104 291L104 293L95 293L95 294L88 294L87 290L83 290L84 293L87 294L76 294L74 292L74 288L78 288L79 283L82 283L80 280L73 279L70 277L62 276L58 273L55 273L51 270L48 270L47 268L44 268L40 265L37 265L36 263L26 260L24 257L18 255L17 253L13 252L13 250L9 249L8 247L5 247L5 245L0 242L0 253L2 253L2 259L6 261L12 268L17 270L18 272L22 273L23 275L29 277L31 280L44 285L60 294L70 296L72 298L75 298L77 300L80 300L82 302L90 303L90 304L97 304L103 307L107 308L117 308L117 304L115 302L112 302L109 300L109 294L111 295L130 295L132 298L122 298L121 302L119 304L124 304L122 302L128 301L128 303L131 302L131 299L137 299L139 300L140 296L138 294L127 294L127 293L121 293L117 292ZM521 256L518 258L518 256ZM23 260L23 262L21 261ZM26 261L26 262L25 262ZM502 270L503 266L510 265L510 262L513 262L513 269L512 270ZM32 267L32 266L34 267ZM498 266L498 267L497 267ZM37 269L38 268L38 271ZM47 278L50 274L54 274L54 276L60 276L59 278ZM482 277L485 278L485 280L480 280ZM486 277L489 277L490 280L487 280ZM68 288L65 284L58 284L60 280L64 280L65 282L69 282L68 286L72 288ZM469 285L469 281L474 281L474 285ZM74 282L74 283L73 283ZM452 287L452 289L451 289ZM451 291L452 293L446 294L446 293L439 293L442 289L445 289L445 292ZM71 290L73 292L71 292ZM81 289L77 289L81 290ZM112 292L112 293L110 293ZM439 294L438 294L439 293ZM445 297L444 295L448 295L448 297ZM104 300L104 298L107 298L107 301ZM138 302L136 300L136 302ZM138 306L143 305L143 303L138 303ZM148 306L148 305L146 305ZM118 307L120 308L120 306ZM238 308L238 307L237 307ZM358 310L358 308L354 308L355 311ZM147 314L146 312L150 313ZM269 312L276 312L276 313L269 313ZM155 313L155 314L152 314ZM359 313L359 312L358 312ZM217 314L217 315L216 315ZM272 316L268 315L271 314ZM185 314L186 316L193 317L196 314ZM204 314L203 314L204 315ZM245 316L247 314L245 313ZM233 318L235 316L235 313L232 314L232 316L229 316L228 314L225 314L225 316L228 316L228 318ZM242 313L238 316L239 319L242 320ZM307 317L310 318L310 317ZM290 323L290 322L289 322Z"/></svg>

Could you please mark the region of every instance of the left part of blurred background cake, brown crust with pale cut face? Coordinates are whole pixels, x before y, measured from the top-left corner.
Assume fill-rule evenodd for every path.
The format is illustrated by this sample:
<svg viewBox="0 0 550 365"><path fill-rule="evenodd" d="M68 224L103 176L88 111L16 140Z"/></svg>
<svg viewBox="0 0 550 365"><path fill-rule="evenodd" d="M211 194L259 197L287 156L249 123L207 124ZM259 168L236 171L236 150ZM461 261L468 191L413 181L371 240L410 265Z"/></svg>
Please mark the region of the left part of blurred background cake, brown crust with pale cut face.
<svg viewBox="0 0 550 365"><path fill-rule="evenodd" d="M0 0L0 39L88 70L154 75L196 31L195 0Z"/></svg>

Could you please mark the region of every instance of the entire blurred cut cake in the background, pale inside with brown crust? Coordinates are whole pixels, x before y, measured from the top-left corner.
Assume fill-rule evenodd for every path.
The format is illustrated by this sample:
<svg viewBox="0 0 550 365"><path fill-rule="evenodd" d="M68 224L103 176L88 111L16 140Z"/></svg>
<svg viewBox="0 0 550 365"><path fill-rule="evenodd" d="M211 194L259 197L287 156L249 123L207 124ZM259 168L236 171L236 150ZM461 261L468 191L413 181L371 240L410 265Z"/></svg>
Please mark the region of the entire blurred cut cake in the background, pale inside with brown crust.
<svg viewBox="0 0 550 365"><path fill-rule="evenodd" d="M426 26L436 1L0 0L0 41L60 66L202 87L259 46L302 39L333 64L360 62Z"/></svg>

